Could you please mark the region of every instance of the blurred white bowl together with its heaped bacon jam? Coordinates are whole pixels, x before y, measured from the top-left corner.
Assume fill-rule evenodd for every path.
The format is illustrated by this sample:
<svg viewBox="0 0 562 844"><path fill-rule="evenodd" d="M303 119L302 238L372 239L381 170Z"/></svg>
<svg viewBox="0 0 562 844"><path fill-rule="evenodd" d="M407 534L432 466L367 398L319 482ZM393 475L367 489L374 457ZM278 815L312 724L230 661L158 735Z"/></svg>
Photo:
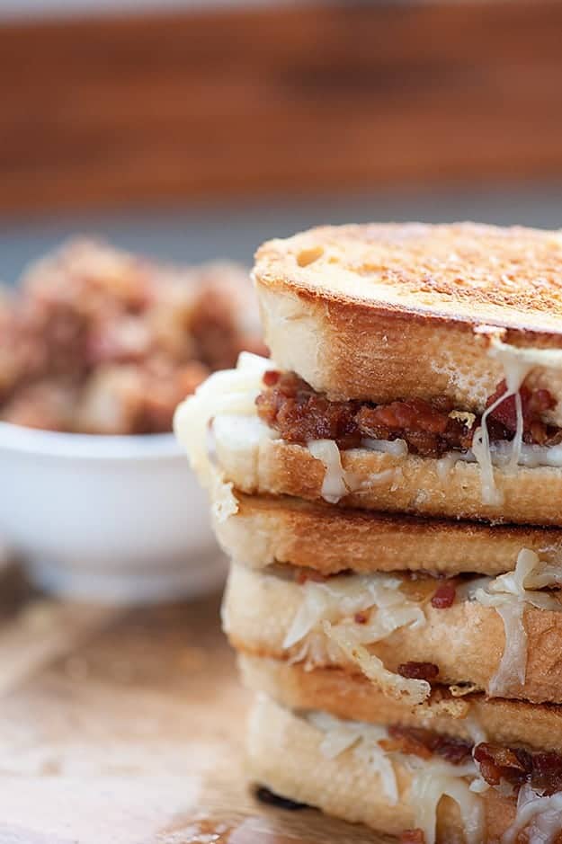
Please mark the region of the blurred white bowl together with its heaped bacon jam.
<svg viewBox="0 0 562 844"><path fill-rule="evenodd" d="M219 582L175 406L263 351L247 273L175 268L90 241L0 296L0 537L40 586L158 600Z"/></svg>

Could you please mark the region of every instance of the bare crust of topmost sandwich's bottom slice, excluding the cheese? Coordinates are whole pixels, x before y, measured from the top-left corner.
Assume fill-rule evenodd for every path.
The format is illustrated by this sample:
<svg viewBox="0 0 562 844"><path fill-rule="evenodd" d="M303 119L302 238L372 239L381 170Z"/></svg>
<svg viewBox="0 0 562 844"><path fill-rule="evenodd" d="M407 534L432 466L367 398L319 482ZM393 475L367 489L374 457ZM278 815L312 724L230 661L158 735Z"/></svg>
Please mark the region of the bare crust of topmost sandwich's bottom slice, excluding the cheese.
<svg viewBox="0 0 562 844"><path fill-rule="evenodd" d="M219 463L227 481L243 493L290 495L322 501L326 466L307 448L284 440L263 439L247 449L232 449L216 437ZM562 526L562 470L517 466L513 474L494 468L503 500L482 501L477 463L445 466L413 454L397 457L368 449L341 452L342 466L355 492L338 504L362 510L402 512L496 523Z"/></svg>

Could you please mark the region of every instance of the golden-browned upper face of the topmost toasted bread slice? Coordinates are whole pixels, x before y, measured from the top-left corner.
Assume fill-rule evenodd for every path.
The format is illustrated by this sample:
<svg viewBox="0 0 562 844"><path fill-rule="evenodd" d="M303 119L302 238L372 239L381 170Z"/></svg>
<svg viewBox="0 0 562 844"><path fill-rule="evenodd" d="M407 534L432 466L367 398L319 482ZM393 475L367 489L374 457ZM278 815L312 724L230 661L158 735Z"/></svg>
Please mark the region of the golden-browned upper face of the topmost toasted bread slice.
<svg viewBox="0 0 562 844"><path fill-rule="evenodd" d="M325 226L263 244L254 272L341 305L562 335L562 231Z"/></svg>

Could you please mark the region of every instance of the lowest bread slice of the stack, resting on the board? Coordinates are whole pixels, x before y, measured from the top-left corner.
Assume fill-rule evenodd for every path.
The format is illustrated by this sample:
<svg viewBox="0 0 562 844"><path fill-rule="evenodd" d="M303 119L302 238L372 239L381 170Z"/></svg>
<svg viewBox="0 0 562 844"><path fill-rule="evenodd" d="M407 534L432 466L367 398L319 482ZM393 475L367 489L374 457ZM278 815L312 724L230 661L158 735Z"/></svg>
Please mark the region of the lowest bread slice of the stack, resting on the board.
<svg viewBox="0 0 562 844"><path fill-rule="evenodd" d="M432 760L415 760L413 767L411 756L393 754L388 761L397 795L388 795L384 774L361 736L338 753L325 742L326 732L306 716L258 698L250 715L248 774L278 795L389 835L418 829L424 831L426 842L484 844L499 841L510 827L514 829L515 798L494 788L471 792L468 786L474 777L455 776L451 768L443 775ZM442 788L451 796L439 799ZM432 797L436 811L431 808Z"/></svg>

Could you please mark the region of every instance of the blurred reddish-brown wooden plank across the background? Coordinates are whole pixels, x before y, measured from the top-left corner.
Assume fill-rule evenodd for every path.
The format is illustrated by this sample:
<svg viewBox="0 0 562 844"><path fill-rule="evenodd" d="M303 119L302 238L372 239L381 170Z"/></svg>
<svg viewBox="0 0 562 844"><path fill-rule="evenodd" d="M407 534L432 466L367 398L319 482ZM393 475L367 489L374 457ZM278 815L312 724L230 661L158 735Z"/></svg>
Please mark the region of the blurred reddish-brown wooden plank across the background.
<svg viewBox="0 0 562 844"><path fill-rule="evenodd" d="M562 3L0 27L0 211L562 174Z"/></svg>

